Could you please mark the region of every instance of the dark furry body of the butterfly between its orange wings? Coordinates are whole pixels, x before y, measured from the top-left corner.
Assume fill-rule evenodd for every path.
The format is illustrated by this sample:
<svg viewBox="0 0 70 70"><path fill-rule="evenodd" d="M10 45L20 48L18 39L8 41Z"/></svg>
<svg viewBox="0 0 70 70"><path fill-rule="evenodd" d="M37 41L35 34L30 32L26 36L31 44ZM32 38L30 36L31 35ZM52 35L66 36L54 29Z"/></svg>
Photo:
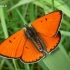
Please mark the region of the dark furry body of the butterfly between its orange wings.
<svg viewBox="0 0 70 70"><path fill-rule="evenodd" d="M32 26L26 26L25 35L28 39L31 40L31 42L35 45L38 51L44 52L45 44L42 41L41 37L38 35L37 31Z"/></svg>

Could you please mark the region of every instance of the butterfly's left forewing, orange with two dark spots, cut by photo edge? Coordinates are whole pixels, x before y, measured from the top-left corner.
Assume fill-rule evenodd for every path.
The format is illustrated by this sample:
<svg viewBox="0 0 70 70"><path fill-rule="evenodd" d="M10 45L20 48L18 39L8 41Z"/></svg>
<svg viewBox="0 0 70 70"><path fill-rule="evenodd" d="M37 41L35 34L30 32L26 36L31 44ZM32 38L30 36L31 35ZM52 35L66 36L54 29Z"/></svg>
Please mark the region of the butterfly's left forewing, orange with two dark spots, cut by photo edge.
<svg viewBox="0 0 70 70"><path fill-rule="evenodd" d="M13 58L20 57L25 41L24 30L16 32L0 45L0 55Z"/></svg>

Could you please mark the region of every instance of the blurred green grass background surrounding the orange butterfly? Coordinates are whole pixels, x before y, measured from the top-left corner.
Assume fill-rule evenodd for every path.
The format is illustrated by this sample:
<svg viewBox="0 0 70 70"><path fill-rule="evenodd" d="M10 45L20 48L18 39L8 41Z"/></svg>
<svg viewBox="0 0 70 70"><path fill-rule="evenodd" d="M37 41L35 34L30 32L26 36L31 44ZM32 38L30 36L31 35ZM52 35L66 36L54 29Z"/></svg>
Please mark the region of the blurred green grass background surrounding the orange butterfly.
<svg viewBox="0 0 70 70"><path fill-rule="evenodd" d="M0 70L70 70L70 1L68 0L0 0L0 43L37 18L55 11L63 11L60 27L62 35L58 48L35 64L19 59L0 57Z"/></svg>

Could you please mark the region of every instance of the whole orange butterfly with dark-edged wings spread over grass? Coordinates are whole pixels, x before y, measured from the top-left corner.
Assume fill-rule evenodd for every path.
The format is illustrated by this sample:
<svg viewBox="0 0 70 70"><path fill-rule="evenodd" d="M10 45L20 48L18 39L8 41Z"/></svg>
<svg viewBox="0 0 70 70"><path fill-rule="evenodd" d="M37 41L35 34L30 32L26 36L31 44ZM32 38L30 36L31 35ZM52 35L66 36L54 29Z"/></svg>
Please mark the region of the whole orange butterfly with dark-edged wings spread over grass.
<svg viewBox="0 0 70 70"><path fill-rule="evenodd" d="M60 42L62 11L57 10L35 20L0 45L0 55L34 63L53 51Z"/></svg>

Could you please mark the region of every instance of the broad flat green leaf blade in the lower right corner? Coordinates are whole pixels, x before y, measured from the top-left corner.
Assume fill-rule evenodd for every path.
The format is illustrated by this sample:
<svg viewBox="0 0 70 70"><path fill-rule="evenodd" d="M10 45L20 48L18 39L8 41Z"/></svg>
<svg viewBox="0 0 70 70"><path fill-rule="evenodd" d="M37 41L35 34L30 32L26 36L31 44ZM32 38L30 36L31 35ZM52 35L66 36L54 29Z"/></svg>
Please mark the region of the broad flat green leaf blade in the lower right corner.
<svg viewBox="0 0 70 70"><path fill-rule="evenodd" d="M46 55L43 59L45 65L49 70L69 70L70 69L70 60L65 56L65 54L57 49L51 54Z"/></svg>

